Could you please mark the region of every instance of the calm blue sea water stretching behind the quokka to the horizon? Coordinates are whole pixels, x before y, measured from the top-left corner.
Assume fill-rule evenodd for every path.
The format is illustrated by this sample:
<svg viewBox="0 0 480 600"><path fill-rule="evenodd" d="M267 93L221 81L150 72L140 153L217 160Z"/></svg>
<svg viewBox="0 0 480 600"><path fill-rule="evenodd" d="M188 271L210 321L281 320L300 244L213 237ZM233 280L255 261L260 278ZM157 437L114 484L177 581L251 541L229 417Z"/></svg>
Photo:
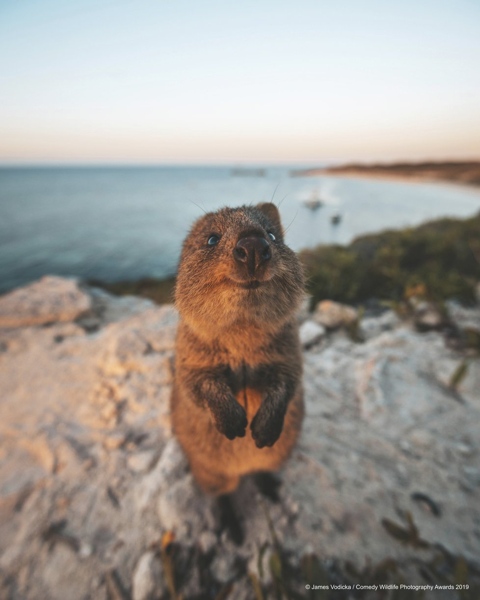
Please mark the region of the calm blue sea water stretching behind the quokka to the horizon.
<svg viewBox="0 0 480 600"><path fill-rule="evenodd" d="M0 291L45 274L164 277L175 272L182 239L202 209L269 202L274 191L295 250L480 209L473 189L292 178L285 167L261 177L235 176L230 167L3 168ZM313 212L303 202L316 196L324 205ZM337 213L341 222L333 226Z"/></svg>

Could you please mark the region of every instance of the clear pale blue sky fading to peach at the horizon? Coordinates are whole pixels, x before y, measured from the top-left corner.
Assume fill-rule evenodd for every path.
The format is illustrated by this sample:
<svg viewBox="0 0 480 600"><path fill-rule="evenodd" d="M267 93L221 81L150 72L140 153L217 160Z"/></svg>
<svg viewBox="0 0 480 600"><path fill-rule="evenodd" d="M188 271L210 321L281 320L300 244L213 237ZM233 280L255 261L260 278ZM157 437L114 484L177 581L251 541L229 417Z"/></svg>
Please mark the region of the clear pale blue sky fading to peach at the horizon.
<svg viewBox="0 0 480 600"><path fill-rule="evenodd" d="M0 163L480 158L480 0L0 0Z"/></svg>

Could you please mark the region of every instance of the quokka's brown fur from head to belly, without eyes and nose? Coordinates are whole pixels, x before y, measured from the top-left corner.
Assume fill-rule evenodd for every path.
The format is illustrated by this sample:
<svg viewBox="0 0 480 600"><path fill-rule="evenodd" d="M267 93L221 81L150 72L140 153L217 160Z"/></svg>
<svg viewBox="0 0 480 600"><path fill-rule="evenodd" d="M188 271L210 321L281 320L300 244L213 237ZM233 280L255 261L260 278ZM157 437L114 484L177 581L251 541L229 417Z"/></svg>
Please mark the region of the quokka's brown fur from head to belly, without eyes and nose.
<svg viewBox="0 0 480 600"><path fill-rule="evenodd" d="M213 234L220 239L209 246ZM254 272L233 256L245 236L270 244L270 259ZM208 493L228 493L242 475L278 469L293 448L303 417L295 319L303 286L272 204L206 214L185 239L172 420Z"/></svg>

